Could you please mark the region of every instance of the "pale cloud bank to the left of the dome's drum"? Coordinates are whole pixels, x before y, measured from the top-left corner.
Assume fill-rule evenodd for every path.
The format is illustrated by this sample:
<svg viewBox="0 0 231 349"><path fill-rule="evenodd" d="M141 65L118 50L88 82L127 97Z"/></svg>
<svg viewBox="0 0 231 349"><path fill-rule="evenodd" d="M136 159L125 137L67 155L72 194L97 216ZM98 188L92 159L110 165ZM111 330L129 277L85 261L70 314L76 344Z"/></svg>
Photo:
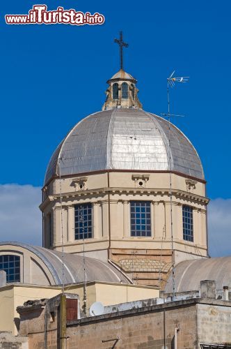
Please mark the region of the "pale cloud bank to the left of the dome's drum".
<svg viewBox="0 0 231 349"><path fill-rule="evenodd" d="M31 185L0 185L0 241L42 244L41 189Z"/></svg>

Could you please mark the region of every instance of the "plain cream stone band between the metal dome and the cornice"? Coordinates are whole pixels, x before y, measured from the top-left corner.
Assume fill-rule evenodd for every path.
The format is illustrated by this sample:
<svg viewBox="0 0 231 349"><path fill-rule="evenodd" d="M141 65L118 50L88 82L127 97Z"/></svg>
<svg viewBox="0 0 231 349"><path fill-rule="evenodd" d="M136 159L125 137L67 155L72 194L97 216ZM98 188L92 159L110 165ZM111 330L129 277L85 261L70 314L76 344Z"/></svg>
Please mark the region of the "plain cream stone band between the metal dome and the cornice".
<svg viewBox="0 0 231 349"><path fill-rule="evenodd" d="M72 175L63 177L61 179L62 193L76 193L78 195L85 194L85 191L95 191L97 189L104 189L108 187L109 172L110 187L120 188L122 190L153 190L161 191L162 189L169 188L169 172L154 172L154 171L132 171L132 170L102 170L98 172L89 172L79 175ZM148 180L141 179L144 186L138 186L138 179L134 179L137 176L148 176ZM182 191L198 197L205 197L205 181L189 178L186 175L177 174L173 172L171 175L172 188L175 191ZM80 188L81 186L81 188ZM58 178L53 179L49 186L46 186L43 190L44 200L48 195L59 195L60 193L60 181Z"/></svg>

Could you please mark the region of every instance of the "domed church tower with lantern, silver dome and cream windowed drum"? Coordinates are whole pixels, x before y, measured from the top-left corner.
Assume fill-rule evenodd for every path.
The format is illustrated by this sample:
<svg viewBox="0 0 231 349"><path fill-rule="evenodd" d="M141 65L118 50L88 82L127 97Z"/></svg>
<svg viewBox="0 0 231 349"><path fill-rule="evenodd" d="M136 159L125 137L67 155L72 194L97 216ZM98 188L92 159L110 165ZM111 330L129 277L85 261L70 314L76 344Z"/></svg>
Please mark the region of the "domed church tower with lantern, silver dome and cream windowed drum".
<svg viewBox="0 0 231 349"><path fill-rule="evenodd" d="M84 246L136 283L164 285L173 263L208 256L202 164L176 126L142 109L132 75L108 83L103 110L72 128L47 167L44 246Z"/></svg>

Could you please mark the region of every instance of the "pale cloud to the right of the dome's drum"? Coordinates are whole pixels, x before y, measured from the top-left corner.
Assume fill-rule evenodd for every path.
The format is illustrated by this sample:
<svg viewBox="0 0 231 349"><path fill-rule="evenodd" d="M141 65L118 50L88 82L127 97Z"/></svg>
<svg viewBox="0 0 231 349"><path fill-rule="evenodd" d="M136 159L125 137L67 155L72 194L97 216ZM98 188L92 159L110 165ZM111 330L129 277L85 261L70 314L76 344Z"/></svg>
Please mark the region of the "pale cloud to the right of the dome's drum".
<svg viewBox="0 0 231 349"><path fill-rule="evenodd" d="M231 255L231 199L218 198L208 208L209 254Z"/></svg>

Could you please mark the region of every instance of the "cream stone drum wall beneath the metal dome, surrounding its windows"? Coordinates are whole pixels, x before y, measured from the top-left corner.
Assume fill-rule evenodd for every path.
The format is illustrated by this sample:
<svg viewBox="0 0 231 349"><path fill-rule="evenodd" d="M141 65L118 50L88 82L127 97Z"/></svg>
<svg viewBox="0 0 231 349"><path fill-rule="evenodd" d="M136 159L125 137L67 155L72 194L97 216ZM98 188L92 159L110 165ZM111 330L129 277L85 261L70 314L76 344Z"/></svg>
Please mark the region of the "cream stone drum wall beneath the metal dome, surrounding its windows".
<svg viewBox="0 0 231 349"><path fill-rule="evenodd" d="M205 182L172 174L173 192L173 236L175 258L180 260L207 256ZM53 192L45 193L41 205L44 212L45 246L61 251L61 205L60 182L54 179ZM85 240L86 255L107 260L110 258L120 267L125 255L136 251L149 251L151 259L158 260L161 250L165 251L164 263L168 269L171 251L170 232L170 189L168 172L102 171L61 179L62 219L65 252L82 253L83 242L74 238L74 205L93 205L93 238ZM143 200L151 202L152 236L132 237L130 235L130 202ZM182 206L193 207L194 240L182 238ZM52 238L49 237L49 214L52 215ZM133 251L133 252L132 252ZM167 253L167 251L169 253ZM147 256L146 259L150 259ZM158 263L157 263L158 264ZM167 272L166 272L167 273ZM142 273L141 273L142 274ZM158 274L158 273L157 273ZM153 275L152 275L153 276ZM142 274L144 277L144 274ZM153 276L154 277L154 276ZM141 276L139 276L140 279ZM147 276L148 278L148 276ZM148 281L142 283L150 284Z"/></svg>

